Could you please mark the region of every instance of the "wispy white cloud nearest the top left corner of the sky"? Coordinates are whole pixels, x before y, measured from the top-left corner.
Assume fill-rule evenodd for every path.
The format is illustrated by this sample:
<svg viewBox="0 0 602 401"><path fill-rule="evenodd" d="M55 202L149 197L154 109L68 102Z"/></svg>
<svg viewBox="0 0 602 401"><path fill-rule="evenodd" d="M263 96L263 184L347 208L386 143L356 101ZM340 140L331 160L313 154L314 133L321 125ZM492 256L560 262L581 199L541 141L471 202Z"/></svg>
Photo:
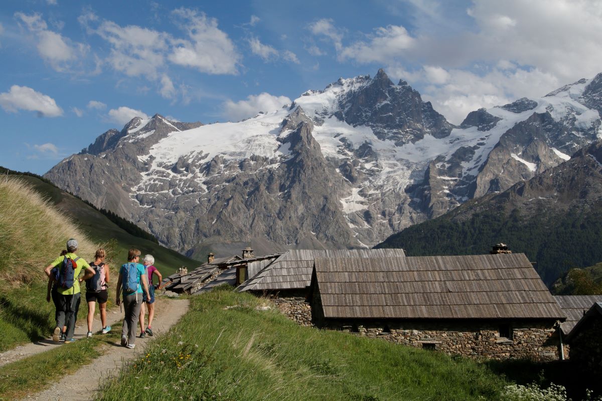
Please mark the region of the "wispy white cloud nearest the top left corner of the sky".
<svg viewBox="0 0 602 401"><path fill-rule="evenodd" d="M73 62L81 62L87 54L89 46L73 42L69 38L47 29L48 24L42 19L41 14L15 13L14 16L36 36L38 53L58 72L70 70Z"/></svg>

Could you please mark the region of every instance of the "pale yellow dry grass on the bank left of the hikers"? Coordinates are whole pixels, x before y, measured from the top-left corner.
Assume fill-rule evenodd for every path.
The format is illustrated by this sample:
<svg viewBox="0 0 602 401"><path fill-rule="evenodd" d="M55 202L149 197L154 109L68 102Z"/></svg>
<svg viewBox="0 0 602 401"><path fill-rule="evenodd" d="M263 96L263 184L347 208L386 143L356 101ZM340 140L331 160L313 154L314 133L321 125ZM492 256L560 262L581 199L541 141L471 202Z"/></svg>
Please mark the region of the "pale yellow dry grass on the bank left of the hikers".
<svg viewBox="0 0 602 401"><path fill-rule="evenodd" d="M22 180L0 180L0 283L18 287L46 280L43 269L70 237L78 240L78 256L92 259L97 244L69 216Z"/></svg>

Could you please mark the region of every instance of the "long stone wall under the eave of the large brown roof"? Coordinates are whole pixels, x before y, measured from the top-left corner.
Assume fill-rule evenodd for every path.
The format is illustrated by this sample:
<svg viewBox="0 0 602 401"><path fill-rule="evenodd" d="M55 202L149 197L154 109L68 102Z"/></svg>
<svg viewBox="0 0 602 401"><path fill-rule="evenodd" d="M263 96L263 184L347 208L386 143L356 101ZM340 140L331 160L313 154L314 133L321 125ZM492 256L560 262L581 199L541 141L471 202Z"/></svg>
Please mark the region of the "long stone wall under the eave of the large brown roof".
<svg viewBox="0 0 602 401"><path fill-rule="evenodd" d="M334 319L329 319L334 320ZM558 339L554 322L510 322L510 338L500 337L499 322L445 321L426 322L327 322L326 327L352 332L356 335L382 338L470 358L529 358L557 360Z"/></svg>

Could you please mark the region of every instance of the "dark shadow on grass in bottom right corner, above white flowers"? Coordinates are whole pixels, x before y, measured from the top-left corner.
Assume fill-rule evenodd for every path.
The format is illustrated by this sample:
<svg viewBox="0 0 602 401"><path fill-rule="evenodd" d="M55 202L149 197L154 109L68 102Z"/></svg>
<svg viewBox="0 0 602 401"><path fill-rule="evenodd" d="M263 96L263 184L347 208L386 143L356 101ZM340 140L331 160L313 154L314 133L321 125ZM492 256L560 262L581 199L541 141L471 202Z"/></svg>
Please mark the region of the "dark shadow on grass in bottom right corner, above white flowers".
<svg viewBox="0 0 602 401"><path fill-rule="evenodd" d="M586 398L586 390L594 391L594 396L602 395L600 378L584 372L571 360L535 362L529 360L487 361L486 366L509 381L521 385L531 383L547 388L551 383L562 385L573 400Z"/></svg>

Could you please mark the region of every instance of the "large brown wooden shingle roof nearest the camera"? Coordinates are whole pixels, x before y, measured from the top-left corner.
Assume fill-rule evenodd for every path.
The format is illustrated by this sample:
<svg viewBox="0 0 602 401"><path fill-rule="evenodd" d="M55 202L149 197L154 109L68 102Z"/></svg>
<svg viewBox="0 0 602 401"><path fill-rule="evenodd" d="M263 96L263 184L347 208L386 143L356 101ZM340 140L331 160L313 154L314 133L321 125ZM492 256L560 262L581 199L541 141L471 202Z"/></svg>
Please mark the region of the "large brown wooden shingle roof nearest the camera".
<svg viewBox="0 0 602 401"><path fill-rule="evenodd" d="M324 317L564 317L524 254L320 258L315 273Z"/></svg>

